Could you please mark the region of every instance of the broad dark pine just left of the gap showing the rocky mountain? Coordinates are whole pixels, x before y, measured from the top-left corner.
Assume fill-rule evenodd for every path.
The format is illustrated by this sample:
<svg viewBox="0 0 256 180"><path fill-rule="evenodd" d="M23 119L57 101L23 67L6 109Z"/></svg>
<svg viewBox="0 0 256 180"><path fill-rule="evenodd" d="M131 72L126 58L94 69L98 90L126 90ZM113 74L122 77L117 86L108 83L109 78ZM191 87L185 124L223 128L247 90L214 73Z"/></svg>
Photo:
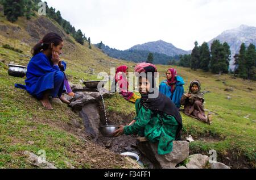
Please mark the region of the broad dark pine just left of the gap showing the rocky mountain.
<svg viewBox="0 0 256 180"><path fill-rule="evenodd" d="M212 54L210 60L210 70L212 73L221 74L228 72L228 65L225 60L226 52L219 40L213 41L210 47L210 52Z"/></svg>

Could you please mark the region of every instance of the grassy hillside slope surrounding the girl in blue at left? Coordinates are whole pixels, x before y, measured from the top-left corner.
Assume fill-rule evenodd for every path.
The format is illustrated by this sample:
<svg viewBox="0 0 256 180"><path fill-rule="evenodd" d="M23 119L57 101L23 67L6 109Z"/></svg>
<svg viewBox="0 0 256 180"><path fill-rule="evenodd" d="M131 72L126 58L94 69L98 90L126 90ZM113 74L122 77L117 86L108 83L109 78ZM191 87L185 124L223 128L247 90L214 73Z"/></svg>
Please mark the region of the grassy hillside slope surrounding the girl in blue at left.
<svg viewBox="0 0 256 180"><path fill-rule="evenodd" d="M97 79L98 72L122 62L97 48L89 49L88 44L76 43L45 16L29 21L19 18L14 24L7 22L3 12L0 16L0 168L33 168L22 152L38 154L40 149L46 150L47 160L57 168L70 168L70 164L75 168L139 168L133 161L90 141L83 133L81 118L67 106L53 103L55 111L44 110L26 91L14 88L14 83L24 83L24 78L7 74L10 62L27 65L31 47L47 32L64 37L61 58L67 61L67 74L74 83L81 78ZM3 44L23 53L2 48Z"/></svg>

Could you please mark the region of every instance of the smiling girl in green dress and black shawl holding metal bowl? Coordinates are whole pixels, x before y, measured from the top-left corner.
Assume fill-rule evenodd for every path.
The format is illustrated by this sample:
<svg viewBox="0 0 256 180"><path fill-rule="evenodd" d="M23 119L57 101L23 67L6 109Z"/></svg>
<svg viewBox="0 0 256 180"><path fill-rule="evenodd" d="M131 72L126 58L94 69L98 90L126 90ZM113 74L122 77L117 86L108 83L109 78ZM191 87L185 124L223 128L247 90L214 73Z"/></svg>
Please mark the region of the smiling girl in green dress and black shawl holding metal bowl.
<svg viewBox="0 0 256 180"><path fill-rule="evenodd" d="M152 143L159 143L158 154L168 154L172 152L172 141L180 139L182 119L175 104L155 87L156 68L147 66L143 69L142 74L139 74L139 93L142 98L135 103L137 116L129 125L120 125L119 129L114 132L114 136L123 133L125 135L138 134ZM148 76L148 73L153 73L152 78ZM154 91L150 91L151 87ZM152 94L158 94L158 96L150 98Z"/></svg>

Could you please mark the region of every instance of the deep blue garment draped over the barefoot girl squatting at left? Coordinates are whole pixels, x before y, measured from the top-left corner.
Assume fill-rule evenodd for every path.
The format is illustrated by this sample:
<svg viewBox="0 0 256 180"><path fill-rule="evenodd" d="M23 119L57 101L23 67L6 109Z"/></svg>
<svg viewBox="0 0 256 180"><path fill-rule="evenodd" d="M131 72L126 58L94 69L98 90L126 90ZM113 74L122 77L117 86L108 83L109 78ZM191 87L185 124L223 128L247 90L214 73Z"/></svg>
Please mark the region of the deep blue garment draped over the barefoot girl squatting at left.
<svg viewBox="0 0 256 180"><path fill-rule="evenodd" d="M62 64L64 71L67 65L64 61ZM58 71L61 71L58 65L53 65L44 53L38 53L28 63L26 85L15 84L15 87L27 90L28 93L37 97L43 91L54 88L54 75Z"/></svg>

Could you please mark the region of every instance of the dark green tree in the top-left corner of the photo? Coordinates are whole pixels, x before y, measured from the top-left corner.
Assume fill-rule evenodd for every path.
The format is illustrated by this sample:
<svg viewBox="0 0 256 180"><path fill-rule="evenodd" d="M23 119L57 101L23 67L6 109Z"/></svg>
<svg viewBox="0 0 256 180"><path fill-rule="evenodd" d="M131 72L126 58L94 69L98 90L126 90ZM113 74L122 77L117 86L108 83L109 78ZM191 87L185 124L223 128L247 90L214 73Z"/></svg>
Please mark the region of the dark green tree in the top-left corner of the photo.
<svg viewBox="0 0 256 180"><path fill-rule="evenodd" d="M14 23L19 16L24 15L24 0L13 0L3 2L3 12L7 20Z"/></svg>

